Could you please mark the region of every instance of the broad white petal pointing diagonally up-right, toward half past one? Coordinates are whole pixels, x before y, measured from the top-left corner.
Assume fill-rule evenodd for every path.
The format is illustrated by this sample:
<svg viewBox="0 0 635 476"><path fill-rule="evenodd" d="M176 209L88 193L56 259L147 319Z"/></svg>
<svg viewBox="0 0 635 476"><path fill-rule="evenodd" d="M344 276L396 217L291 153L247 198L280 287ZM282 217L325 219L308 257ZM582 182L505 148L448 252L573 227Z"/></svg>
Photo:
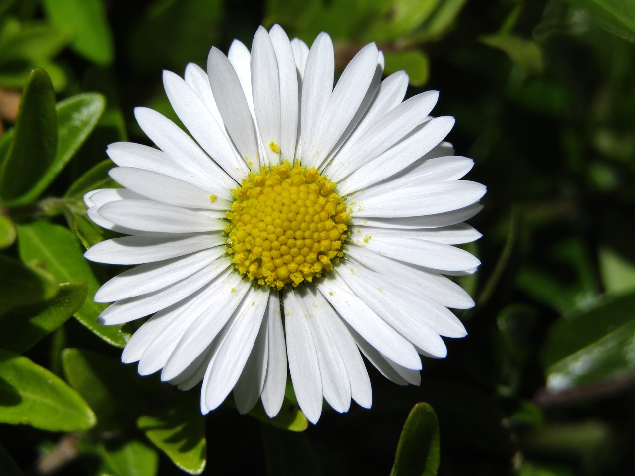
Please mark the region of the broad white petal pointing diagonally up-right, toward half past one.
<svg viewBox="0 0 635 476"><path fill-rule="evenodd" d="M333 182L350 175L424 122L438 97L438 91L426 91L389 110L363 134L351 138L324 171Z"/></svg>

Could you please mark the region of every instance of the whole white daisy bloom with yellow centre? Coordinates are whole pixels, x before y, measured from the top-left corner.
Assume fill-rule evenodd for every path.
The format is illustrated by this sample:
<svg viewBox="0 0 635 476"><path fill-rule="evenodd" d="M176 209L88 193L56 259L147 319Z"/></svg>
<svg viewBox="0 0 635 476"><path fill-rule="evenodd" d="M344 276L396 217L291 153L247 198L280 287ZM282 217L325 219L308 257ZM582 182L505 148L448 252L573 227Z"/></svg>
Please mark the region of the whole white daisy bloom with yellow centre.
<svg viewBox="0 0 635 476"><path fill-rule="evenodd" d="M382 81L383 67L368 44L333 89L330 37L309 50L276 25L258 29L251 52L212 48L207 73L164 72L194 140L137 108L158 149L110 145L125 188L86 195L95 223L130 235L86 258L139 265L95 295L114 302L100 321L152 315L123 362L183 389L202 380L203 413L233 390L242 413L262 398L275 416L288 361L315 423L323 397L338 412L351 399L370 407L361 354L417 385L419 354L445 357L440 336L465 335L448 308L474 303L443 275L479 265L452 245L479 238L463 221L485 187L459 180L472 161L442 142L454 119L429 116L438 93L403 101L408 76Z"/></svg>

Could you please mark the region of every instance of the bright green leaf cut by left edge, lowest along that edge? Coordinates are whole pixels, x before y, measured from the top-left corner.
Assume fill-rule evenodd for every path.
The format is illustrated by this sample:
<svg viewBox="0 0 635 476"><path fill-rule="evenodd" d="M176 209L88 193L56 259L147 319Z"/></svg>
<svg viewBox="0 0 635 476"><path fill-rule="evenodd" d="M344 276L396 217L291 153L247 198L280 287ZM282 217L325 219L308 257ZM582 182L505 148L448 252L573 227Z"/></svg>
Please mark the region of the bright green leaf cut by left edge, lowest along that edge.
<svg viewBox="0 0 635 476"><path fill-rule="evenodd" d="M95 414L55 374L26 357L0 349L0 422L51 432L76 432L95 425Z"/></svg>

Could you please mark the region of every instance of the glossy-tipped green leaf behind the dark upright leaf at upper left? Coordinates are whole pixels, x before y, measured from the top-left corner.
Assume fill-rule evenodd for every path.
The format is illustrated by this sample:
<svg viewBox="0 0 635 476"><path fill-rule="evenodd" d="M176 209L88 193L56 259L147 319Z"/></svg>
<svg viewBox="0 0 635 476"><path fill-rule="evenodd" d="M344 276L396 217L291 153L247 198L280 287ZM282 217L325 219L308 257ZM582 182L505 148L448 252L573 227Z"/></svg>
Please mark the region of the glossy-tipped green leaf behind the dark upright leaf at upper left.
<svg viewBox="0 0 635 476"><path fill-rule="evenodd" d="M84 93L60 101L57 106L57 154L50 168L17 203L28 203L39 197L60 174L86 141L104 112L104 96Z"/></svg>

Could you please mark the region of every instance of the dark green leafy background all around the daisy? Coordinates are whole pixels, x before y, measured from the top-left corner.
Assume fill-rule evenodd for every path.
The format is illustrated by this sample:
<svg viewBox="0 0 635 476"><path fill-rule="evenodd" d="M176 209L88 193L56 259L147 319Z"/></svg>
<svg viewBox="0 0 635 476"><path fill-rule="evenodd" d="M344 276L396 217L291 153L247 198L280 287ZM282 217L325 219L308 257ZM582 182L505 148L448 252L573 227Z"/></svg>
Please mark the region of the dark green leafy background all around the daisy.
<svg viewBox="0 0 635 476"><path fill-rule="evenodd" d="M83 203L116 186L107 144L149 143L135 106L175 119L161 69L274 23L329 32L340 72L375 41L409 95L439 89L488 185L469 336L421 387L371 369L371 410L310 428L292 393L275 420L203 417L119 364L135 326L92 300L119 270L82 256L113 236ZM631 474L633 43L624 0L0 0L0 473Z"/></svg>

